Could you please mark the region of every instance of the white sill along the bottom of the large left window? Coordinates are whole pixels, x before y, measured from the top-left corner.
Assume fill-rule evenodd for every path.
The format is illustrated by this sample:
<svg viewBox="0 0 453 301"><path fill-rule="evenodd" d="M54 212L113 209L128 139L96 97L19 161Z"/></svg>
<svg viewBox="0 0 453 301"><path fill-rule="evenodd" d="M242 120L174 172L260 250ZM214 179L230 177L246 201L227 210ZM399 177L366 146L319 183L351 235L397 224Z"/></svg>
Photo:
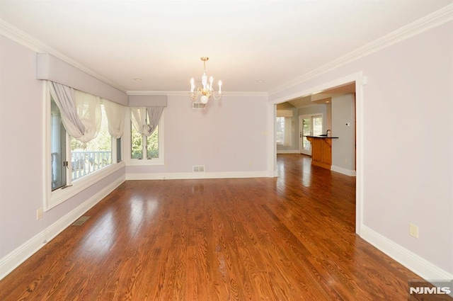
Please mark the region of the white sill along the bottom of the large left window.
<svg viewBox="0 0 453 301"><path fill-rule="evenodd" d="M103 169L99 169L98 171L93 172L93 174L89 174L87 176L74 180L71 186L59 188L55 191L52 191L50 193L50 199L46 204L47 206L45 208L45 211L54 208L55 206L63 203L69 198L72 198L77 193L80 193L93 184L98 183L98 181L101 181L106 176L110 176L110 174L115 173L115 171L122 169L125 165L126 164L124 161L121 161L117 164L111 164Z"/></svg>

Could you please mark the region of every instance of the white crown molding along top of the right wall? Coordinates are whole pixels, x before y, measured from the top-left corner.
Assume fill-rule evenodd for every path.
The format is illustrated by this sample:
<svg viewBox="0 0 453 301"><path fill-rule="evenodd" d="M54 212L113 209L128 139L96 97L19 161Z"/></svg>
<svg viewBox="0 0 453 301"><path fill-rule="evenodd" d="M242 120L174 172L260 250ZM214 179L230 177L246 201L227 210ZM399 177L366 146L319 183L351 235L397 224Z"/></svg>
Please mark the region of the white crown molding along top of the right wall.
<svg viewBox="0 0 453 301"><path fill-rule="evenodd" d="M343 57L339 57L323 66L312 70L311 72L307 72L306 74L293 79L292 81L288 81L286 84L278 86L275 89L269 91L269 95L284 91L289 89L292 86L297 84L301 84L302 82L312 79L316 76L319 76L323 73L329 72L333 69L341 67L345 64L353 62L361 57L365 57L367 55L372 54L373 52L377 52L382 50L385 47L389 47L391 45L396 44L397 42L401 42L408 38L413 37L414 35L418 35L423 33L427 30L445 24L449 21L453 20L453 4L449 4L438 11L430 13L423 18L418 19L408 25L405 25L393 32L389 33L388 35L384 35L382 38L374 40L373 42L369 42L367 45L364 45L357 50L349 52L347 55L343 55Z"/></svg>

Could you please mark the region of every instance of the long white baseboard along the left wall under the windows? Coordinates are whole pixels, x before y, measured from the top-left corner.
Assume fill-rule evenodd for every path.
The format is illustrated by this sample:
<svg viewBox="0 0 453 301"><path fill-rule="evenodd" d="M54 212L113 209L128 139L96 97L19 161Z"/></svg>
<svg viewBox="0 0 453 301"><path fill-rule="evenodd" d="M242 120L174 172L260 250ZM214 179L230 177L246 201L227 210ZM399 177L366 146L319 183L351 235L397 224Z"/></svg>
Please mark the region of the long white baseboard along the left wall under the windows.
<svg viewBox="0 0 453 301"><path fill-rule="evenodd" d="M105 196L120 186L124 181L125 176L122 176L113 183L110 183L108 186L105 186L105 188L101 191L98 191L98 193L93 195L84 203L81 203L81 205L76 207L74 210L68 212L67 215L64 215L62 218L57 220L57 222L54 222L49 227L46 227L40 233L36 234L35 237L32 237L17 249L11 251L10 254L0 259L0 280L8 275L8 273L11 273L11 271L17 268L21 263L23 263L23 261L35 254L47 242L50 242L50 240L56 237L57 234L69 227L69 225L81 217L81 215L84 215L86 211L99 203L99 201L105 198Z"/></svg>

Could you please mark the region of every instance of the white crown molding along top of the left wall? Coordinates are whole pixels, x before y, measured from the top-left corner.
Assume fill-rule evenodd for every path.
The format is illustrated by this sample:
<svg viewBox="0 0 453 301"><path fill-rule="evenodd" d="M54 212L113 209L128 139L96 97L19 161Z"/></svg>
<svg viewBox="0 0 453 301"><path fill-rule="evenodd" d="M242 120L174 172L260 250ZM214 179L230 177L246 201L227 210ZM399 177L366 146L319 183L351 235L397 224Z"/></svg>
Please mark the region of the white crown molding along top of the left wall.
<svg viewBox="0 0 453 301"><path fill-rule="evenodd" d="M74 59L71 59L70 57L67 57L66 55L62 54L62 52L55 50L54 48L50 47L49 45L45 44L44 42L41 42L40 40L34 38L33 36L29 35L28 33L25 33L25 31L14 27L10 23L8 23L2 19L0 19L0 35L4 35L6 38L13 40L14 42L17 42L18 44L21 44L35 52L44 52L44 53L48 53L54 57L57 57L57 59L61 59L63 62L67 62L71 66L76 67L77 69L80 69L81 71L85 72L86 74L90 74L91 76L95 77L96 79L99 79L100 81L105 82L105 84L113 86L114 88L116 88L122 92L126 92L126 89L123 88L122 86L115 84L113 81L110 81L109 79L106 79L105 77L97 74L93 70L88 69L83 64L76 62Z"/></svg>

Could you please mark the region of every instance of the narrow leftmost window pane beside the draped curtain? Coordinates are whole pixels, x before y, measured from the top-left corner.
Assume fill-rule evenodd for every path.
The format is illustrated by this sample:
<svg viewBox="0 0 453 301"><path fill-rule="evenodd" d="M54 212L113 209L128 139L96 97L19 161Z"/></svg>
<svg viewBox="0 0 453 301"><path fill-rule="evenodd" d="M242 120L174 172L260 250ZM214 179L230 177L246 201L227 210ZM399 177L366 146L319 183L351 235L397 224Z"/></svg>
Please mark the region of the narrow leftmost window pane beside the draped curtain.
<svg viewBox="0 0 453 301"><path fill-rule="evenodd" d="M51 132L50 132L50 149L52 164L52 191L66 186L66 130L62 124L62 118L59 108L55 101L51 100Z"/></svg>

